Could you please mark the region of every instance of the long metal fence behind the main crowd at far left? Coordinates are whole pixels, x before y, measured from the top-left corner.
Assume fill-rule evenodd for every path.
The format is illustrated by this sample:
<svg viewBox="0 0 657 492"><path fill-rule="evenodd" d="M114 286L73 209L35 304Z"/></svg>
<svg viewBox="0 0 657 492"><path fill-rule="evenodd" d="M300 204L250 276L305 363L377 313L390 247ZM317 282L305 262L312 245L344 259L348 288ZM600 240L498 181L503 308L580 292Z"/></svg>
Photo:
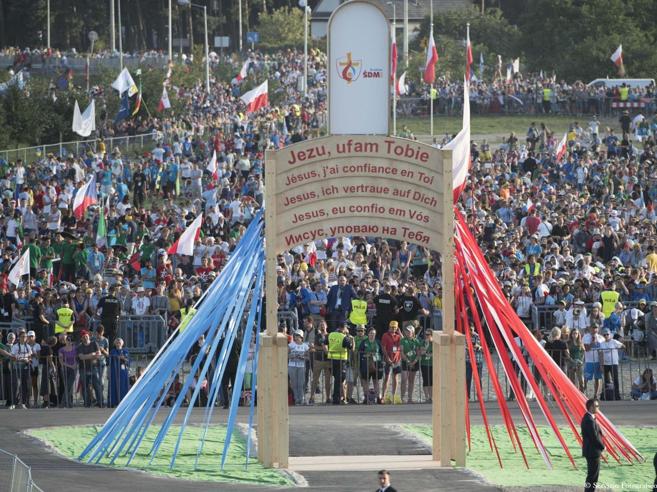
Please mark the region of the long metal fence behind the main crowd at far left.
<svg viewBox="0 0 657 492"><path fill-rule="evenodd" d="M107 152L111 153L118 148L122 153L132 149L140 149L144 145L150 145L157 139L158 132L142 133L140 135L125 135L120 137L105 138ZM59 142L55 144L37 145L34 147L20 147L15 149L0 150L0 158L13 162L16 159L23 159L29 162L47 156L49 153L66 157L69 155L80 155L87 151L96 151L98 148L99 138L89 140L75 140L72 142Z"/></svg>

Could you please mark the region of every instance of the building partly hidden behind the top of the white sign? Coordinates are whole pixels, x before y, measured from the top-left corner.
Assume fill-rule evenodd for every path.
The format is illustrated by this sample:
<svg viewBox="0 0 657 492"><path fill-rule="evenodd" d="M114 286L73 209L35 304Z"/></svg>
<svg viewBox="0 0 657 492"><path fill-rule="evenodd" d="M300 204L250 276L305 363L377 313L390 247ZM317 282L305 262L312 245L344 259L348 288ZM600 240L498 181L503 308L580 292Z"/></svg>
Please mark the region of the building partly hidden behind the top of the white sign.
<svg viewBox="0 0 657 492"><path fill-rule="evenodd" d="M431 5L427 0L373 0L379 4L386 16L392 22L393 12L397 16L397 32L400 33L404 28L404 3L408 2L408 30L409 38L413 38L414 32L419 27L422 19L429 15ZM394 8L393 8L394 2ZM344 0L320 0L313 9L312 19L310 22L310 31L313 39L321 39L326 36L328 20L333 11L344 3ZM473 5L472 0L434 0L433 9L435 12L441 10L464 9Z"/></svg>

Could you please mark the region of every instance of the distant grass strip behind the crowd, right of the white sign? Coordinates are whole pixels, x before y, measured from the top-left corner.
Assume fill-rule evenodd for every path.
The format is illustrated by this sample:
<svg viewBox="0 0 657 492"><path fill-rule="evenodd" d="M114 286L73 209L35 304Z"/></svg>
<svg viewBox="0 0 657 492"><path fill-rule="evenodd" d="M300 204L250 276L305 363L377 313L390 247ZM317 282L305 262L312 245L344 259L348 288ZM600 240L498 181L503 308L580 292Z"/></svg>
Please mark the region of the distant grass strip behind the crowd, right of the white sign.
<svg viewBox="0 0 657 492"><path fill-rule="evenodd" d="M551 116L551 115L485 115L472 116L471 133L477 139L488 138L489 142L501 142L501 137L508 137L511 132L515 132L524 143L527 135L527 129L532 122L535 122L540 128L541 123L554 131L556 135L561 136L568 129L568 125L574 121L579 122L580 126L586 128L590 116L577 118L575 116ZM601 118L601 127L615 126L618 129L618 120L615 118ZM434 135L443 137L445 133L450 135L457 133L463 124L461 116L434 116ZM401 131L406 125L415 135L428 135L430 133L429 117L426 118L399 118L397 119L397 132Z"/></svg>

